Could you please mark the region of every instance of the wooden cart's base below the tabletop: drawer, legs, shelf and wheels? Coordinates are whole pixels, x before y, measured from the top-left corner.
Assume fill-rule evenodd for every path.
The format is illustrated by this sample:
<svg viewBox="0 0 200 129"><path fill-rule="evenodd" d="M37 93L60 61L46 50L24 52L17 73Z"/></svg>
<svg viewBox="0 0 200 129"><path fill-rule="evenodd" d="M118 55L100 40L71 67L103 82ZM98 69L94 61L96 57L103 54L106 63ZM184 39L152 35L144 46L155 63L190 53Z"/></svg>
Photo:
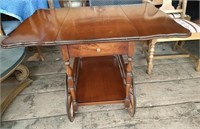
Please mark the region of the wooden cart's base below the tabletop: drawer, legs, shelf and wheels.
<svg viewBox="0 0 200 129"><path fill-rule="evenodd" d="M124 103L133 116L135 89L132 73L134 42L61 46L66 65L66 109L74 120L79 105ZM128 55L125 64L122 55ZM73 67L69 60L74 58Z"/></svg>

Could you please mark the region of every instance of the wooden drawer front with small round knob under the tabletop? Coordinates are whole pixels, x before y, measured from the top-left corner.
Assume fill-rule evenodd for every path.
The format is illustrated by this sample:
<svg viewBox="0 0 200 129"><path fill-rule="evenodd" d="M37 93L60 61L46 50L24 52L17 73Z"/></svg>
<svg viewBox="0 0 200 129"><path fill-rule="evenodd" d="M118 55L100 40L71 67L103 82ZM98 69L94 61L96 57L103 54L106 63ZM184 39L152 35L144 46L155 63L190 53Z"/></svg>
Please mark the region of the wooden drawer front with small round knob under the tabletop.
<svg viewBox="0 0 200 129"><path fill-rule="evenodd" d="M128 42L68 45L68 51L70 57L121 55L127 54Z"/></svg>

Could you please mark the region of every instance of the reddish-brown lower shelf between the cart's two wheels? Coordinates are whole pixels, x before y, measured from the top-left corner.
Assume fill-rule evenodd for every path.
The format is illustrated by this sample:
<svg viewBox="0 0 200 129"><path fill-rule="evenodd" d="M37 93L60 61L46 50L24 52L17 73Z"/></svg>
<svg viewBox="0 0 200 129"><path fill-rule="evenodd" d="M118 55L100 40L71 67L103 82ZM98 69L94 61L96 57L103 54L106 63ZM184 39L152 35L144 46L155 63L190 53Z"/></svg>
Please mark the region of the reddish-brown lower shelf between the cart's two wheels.
<svg viewBox="0 0 200 129"><path fill-rule="evenodd" d="M82 58L76 90L79 104L123 102L125 88L116 58Z"/></svg>

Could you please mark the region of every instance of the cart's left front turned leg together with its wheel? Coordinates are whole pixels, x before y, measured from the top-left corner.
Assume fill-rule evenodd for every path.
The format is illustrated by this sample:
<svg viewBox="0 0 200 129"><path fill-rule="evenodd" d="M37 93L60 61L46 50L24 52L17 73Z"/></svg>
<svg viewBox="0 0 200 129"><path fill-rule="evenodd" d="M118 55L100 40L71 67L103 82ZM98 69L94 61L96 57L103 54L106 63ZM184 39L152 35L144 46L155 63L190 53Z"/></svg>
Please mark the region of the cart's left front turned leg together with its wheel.
<svg viewBox="0 0 200 129"><path fill-rule="evenodd" d="M72 122L75 117L75 111L77 111L78 105L76 102L76 89L74 87L74 81L73 81L73 73L72 68L70 67L69 63L69 54L67 45L61 46L62 56L63 60L65 61L66 66L66 109L67 109L67 115L69 120Z"/></svg>

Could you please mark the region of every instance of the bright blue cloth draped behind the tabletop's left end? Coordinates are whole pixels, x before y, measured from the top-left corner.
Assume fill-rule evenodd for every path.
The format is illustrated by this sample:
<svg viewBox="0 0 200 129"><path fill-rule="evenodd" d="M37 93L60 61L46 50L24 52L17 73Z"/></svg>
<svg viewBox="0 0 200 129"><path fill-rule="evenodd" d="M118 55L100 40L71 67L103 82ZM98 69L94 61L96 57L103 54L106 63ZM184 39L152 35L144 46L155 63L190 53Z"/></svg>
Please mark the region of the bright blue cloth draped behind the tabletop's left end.
<svg viewBox="0 0 200 129"><path fill-rule="evenodd" d="M53 0L56 8L58 0ZM9 15L23 22L36 10L48 8L47 0L0 0L0 13Z"/></svg>

